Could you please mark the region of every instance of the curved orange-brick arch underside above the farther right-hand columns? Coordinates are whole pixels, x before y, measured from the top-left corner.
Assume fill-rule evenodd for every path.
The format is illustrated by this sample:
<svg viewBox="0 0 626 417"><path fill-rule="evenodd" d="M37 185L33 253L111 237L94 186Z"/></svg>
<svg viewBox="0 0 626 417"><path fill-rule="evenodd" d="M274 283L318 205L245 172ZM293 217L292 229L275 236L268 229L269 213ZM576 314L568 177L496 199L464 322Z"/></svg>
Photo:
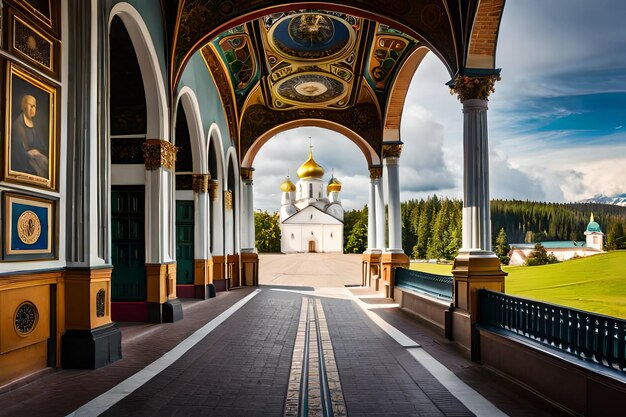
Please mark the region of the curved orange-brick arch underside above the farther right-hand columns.
<svg viewBox="0 0 626 417"><path fill-rule="evenodd" d="M411 52L411 55L407 57L398 71L398 75L390 89L391 94L387 102L387 112L383 119L385 121L383 141L400 140L400 122L406 95L409 91L415 71L417 71L417 68L428 52L429 50L425 46L415 49Z"/></svg>

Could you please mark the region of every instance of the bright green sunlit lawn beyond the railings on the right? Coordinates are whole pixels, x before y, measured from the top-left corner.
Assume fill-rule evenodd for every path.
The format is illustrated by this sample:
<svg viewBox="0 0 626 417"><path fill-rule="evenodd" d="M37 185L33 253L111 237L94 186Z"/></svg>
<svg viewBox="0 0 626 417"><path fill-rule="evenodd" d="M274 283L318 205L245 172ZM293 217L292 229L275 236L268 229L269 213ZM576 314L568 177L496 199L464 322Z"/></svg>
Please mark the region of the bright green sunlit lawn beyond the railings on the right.
<svg viewBox="0 0 626 417"><path fill-rule="evenodd" d="M412 263L411 269L449 275L451 266ZM626 319L626 251L504 270L507 294Z"/></svg>

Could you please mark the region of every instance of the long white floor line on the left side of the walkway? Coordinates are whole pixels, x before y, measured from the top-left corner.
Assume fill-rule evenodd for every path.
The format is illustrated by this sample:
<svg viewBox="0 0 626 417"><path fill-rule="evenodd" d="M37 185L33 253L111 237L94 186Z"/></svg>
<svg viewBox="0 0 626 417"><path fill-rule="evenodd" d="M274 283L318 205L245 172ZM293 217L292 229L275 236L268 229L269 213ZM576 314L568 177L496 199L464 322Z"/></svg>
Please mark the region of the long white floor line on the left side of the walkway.
<svg viewBox="0 0 626 417"><path fill-rule="evenodd" d="M247 295L245 298L237 301L230 308L224 311L219 316L196 330L193 334L187 337L185 340L176 345L172 350L161 356L150 365L137 372L131 377L128 377L124 381L120 382L109 391L94 398L87 404L83 405L76 411L68 414L68 417L82 417L82 416L97 416L104 413L109 408L113 407L119 401L124 399L127 395L131 394L136 389L140 388L154 376L158 375L165 368L173 364L180 359L189 349L194 347L199 341L204 339L209 333L222 324L227 318L232 316L237 310L243 307L248 301L257 295L261 290L255 290Z"/></svg>

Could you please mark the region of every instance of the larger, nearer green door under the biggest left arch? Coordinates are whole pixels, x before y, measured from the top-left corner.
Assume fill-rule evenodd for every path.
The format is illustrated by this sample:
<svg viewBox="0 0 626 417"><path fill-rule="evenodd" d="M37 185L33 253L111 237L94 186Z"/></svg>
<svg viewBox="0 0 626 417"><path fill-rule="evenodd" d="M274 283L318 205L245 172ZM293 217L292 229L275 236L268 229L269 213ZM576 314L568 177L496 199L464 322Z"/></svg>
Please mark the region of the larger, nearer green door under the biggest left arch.
<svg viewBox="0 0 626 417"><path fill-rule="evenodd" d="M144 188L111 187L112 301L146 299Z"/></svg>

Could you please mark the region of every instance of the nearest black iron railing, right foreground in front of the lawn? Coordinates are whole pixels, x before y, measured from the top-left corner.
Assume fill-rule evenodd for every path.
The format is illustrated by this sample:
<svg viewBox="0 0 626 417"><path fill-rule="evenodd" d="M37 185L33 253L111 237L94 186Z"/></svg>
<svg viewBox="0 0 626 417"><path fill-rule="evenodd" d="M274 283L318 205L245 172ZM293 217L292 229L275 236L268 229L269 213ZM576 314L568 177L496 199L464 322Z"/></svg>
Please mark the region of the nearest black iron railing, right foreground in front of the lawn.
<svg viewBox="0 0 626 417"><path fill-rule="evenodd" d="M479 304L480 325L626 371L626 320L489 290L479 291Z"/></svg>

